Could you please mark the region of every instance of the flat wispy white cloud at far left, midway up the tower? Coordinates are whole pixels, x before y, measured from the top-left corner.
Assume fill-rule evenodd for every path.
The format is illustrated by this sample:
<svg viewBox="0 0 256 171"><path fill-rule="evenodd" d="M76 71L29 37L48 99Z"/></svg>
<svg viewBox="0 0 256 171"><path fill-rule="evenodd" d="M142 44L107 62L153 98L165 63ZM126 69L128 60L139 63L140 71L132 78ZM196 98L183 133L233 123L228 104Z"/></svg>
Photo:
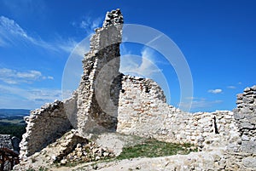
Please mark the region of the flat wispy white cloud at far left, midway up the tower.
<svg viewBox="0 0 256 171"><path fill-rule="evenodd" d="M0 68L0 81L8 84L32 83L45 79L54 79L51 76L43 76L41 71L15 71L8 68Z"/></svg>

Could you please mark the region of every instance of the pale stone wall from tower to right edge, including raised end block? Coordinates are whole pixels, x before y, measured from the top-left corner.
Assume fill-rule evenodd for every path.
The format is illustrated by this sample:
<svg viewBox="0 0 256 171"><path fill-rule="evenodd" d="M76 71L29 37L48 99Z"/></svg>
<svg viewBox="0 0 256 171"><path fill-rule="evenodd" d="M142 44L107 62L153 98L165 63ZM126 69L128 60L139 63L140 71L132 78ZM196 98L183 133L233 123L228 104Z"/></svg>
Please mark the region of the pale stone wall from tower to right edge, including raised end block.
<svg viewBox="0 0 256 171"><path fill-rule="evenodd" d="M195 144L202 152L198 160L209 154L212 162L208 164L215 169L256 170L256 86L238 94L236 103L234 111L183 112L166 105L152 80L125 76L119 95L117 131ZM201 170L210 169L204 166L206 163L197 162Z"/></svg>

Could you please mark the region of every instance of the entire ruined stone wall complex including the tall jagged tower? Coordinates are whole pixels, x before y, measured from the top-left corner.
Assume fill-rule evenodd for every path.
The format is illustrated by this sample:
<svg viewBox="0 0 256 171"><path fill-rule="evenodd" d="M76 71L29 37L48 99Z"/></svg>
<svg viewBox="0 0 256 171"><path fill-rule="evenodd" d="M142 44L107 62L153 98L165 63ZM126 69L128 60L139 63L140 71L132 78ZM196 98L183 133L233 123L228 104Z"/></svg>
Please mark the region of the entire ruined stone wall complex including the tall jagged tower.
<svg viewBox="0 0 256 171"><path fill-rule="evenodd" d="M117 131L195 144L201 151L194 156L197 170L256 170L256 86L237 95L234 111L189 113L168 105L153 80L119 73L123 22L120 10L113 10L96 29L72 98L56 100L26 118L20 157L41 151L73 127L83 137ZM201 163L204 155L211 162ZM182 163L189 163L190 156L181 157Z"/></svg>

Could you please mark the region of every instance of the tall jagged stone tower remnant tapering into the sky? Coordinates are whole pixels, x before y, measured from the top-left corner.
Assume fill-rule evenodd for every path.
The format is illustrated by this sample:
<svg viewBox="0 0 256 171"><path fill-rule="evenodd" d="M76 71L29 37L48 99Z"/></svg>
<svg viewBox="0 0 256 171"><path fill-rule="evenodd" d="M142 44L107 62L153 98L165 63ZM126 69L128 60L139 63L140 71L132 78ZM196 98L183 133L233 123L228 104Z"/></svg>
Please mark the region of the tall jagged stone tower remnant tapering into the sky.
<svg viewBox="0 0 256 171"><path fill-rule="evenodd" d="M84 73L78 90L80 134L116 128L118 106L111 105L109 109L108 103L110 96L118 96L118 93L110 92L110 87L114 78L119 76L122 24L119 9L108 12L102 28L96 29L96 34L90 39L90 51L84 55Z"/></svg>

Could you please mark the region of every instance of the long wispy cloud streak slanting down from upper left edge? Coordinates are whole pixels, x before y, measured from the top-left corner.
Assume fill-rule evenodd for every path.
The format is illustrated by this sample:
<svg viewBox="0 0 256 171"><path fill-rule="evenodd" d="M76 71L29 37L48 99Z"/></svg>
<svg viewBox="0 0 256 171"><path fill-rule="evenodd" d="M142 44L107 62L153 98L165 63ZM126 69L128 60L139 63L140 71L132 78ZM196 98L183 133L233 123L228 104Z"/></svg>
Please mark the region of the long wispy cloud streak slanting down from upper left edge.
<svg viewBox="0 0 256 171"><path fill-rule="evenodd" d="M0 46L14 46L20 45L20 43L31 43L40 48L57 52L71 52L77 44L72 38L46 42L40 37L32 37L15 20L0 16Z"/></svg>

